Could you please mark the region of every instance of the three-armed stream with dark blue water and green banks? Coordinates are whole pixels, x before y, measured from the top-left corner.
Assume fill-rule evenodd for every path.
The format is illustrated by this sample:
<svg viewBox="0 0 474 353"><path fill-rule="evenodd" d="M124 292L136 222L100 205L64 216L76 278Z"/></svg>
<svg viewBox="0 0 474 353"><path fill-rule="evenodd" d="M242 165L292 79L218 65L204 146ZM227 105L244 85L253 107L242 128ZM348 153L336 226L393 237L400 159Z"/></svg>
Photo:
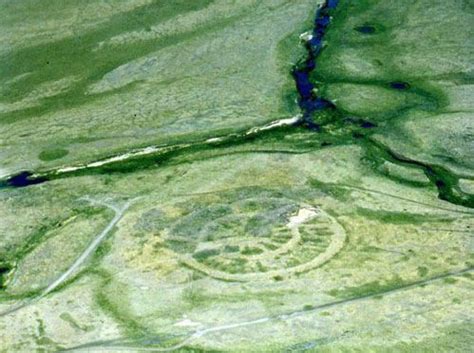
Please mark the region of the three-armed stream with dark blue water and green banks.
<svg viewBox="0 0 474 353"><path fill-rule="evenodd" d="M306 58L295 65L291 72L295 81L296 90L298 91L298 105L301 110L301 114L296 117L274 121L267 125L254 127L240 133L211 137L204 141L195 141L170 146L147 146L83 165L66 166L40 173L22 171L5 180L0 180L0 189L27 187L41 184L49 180L74 177L78 175L134 172L140 169L156 167L158 164L163 165L177 155L184 155L189 152L245 144L247 141L266 138L270 134L278 133L282 130L284 134L289 134L294 131L288 130L291 127L302 127L314 132L325 132L325 125L316 123L314 117L317 112L330 110L334 113L334 117L329 124L337 125L343 132L338 137L339 141L336 141L336 143L344 143L345 140L350 140L352 143L361 145L366 151L376 151L376 157L378 159L385 159L399 165L420 168L431 181L433 186L437 188L438 197L440 199L455 205L473 208L474 195L466 194L460 190L458 185L459 177L453 172L443 166L429 165L408 159L397 154L395 151L391 151L386 146L373 140L370 137L370 134L366 135L357 130L358 128L374 129L376 128L376 125L370 122L361 121L360 119L343 116L332 102L318 95L317 87L311 82L310 76L313 71L317 70L317 58L324 47L323 38L331 23L331 16L333 15L333 11L336 9L338 3L339 0L327 0L323 5L319 6L316 11L313 30L301 36L305 41L304 45L307 55ZM362 33L370 30L368 27L359 29ZM408 84L404 82L392 82L390 85L393 89L406 89ZM353 127L350 127L348 131L344 132L343 125L347 125L347 123L352 124ZM358 126L357 128L355 127L356 125ZM323 142L321 146L330 144L331 143ZM301 152L297 151L296 153L305 152L307 152L307 150L302 150Z"/></svg>

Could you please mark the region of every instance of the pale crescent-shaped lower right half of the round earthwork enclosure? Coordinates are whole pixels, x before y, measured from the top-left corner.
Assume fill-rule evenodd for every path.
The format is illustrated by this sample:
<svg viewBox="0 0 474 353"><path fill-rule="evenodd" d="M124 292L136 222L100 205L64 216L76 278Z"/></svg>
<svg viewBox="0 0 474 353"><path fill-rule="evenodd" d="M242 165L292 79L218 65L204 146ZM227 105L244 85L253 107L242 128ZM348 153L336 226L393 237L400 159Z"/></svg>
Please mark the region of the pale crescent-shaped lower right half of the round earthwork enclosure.
<svg viewBox="0 0 474 353"><path fill-rule="evenodd" d="M346 231L333 216L320 208L302 207L285 225L277 227L272 241L243 236L204 242L199 251L210 254L204 259L192 254L178 256L186 266L220 280L279 279L323 265L342 249L345 239ZM242 251L216 250L242 247L249 249L245 255ZM242 270L235 271L233 263L240 264Z"/></svg>

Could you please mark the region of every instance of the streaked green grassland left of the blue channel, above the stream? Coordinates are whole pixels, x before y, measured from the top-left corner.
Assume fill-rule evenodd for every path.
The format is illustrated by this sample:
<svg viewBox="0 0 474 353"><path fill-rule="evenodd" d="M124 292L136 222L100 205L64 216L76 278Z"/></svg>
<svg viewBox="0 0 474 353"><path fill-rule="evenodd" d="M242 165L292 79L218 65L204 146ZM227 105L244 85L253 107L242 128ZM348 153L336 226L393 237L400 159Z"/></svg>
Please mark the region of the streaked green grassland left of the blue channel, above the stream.
<svg viewBox="0 0 474 353"><path fill-rule="evenodd" d="M51 19L72 33L5 48L2 175L234 132L298 112L290 69L304 55L298 35L310 26L313 1L142 3L129 1L110 16L102 1L89 1L101 14L94 23L81 18L86 13ZM21 21L20 5L2 6L12 22ZM25 4L22 14L46 16L41 7Z"/></svg>

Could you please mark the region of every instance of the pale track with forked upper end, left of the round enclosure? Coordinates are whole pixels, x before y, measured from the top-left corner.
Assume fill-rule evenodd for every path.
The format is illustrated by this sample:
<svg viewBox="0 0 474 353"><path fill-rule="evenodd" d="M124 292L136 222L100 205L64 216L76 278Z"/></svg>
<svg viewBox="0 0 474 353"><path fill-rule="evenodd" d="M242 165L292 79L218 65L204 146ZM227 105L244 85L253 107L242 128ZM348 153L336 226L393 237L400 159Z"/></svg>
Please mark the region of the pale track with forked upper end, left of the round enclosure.
<svg viewBox="0 0 474 353"><path fill-rule="evenodd" d="M71 277L71 275L87 260L87 258L97 249L97 247L100 245L100 243L105 239L107 234L112 230L112 228L120 221L120 219L123 217L125 211L130 207L131 203L136 200L129 200L127 201L123 206L117 207L111 203L107 203L105 201L100 201L100 200L94 200L89 197L84 197L81 200L85 200L90 202L93 205L100 205L104 206L107 208L110 208L115 212L114 218L109 222L107 227L104 228L104 230L98 234L94 240L89 244L89 246L82 252L82 254L74 261L74 263L64 272L59 276L54 282L49 284L43 291L36 297L23 301L17 305L14 305L13 307L5 310L5 311L0 311L0 317L6 316L8 314L11 314L15 311L18 311L28 305L31 305L33 303L36 303L39 301L41 298L45 297L52 291L54 291L56 288L58 288L61 284L63 284L67 279Z"/></svg>

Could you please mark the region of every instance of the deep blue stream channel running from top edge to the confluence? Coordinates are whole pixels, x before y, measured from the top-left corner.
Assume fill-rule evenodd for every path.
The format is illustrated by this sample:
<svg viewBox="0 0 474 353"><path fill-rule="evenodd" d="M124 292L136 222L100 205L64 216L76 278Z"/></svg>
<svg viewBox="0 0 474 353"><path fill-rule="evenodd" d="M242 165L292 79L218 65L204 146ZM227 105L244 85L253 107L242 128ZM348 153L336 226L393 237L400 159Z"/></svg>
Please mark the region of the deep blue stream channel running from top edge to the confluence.
<svg viewBox="0 0 474 353"><path fill-rule="evenodd" d="M315 86L311 83L310 76L316 67L316 57L323 48L323 37L327 27L331 23L331 10L336 8L339 0L327 0L317 11L314 20L313 37L306 42L308 57L293 69L296 89L298 90L298 104L303 113L303 118L299 122L306 128L320 131L320 126L313 119L313 113L326 108L333 108L334 105L315 94Z"/></svg>

